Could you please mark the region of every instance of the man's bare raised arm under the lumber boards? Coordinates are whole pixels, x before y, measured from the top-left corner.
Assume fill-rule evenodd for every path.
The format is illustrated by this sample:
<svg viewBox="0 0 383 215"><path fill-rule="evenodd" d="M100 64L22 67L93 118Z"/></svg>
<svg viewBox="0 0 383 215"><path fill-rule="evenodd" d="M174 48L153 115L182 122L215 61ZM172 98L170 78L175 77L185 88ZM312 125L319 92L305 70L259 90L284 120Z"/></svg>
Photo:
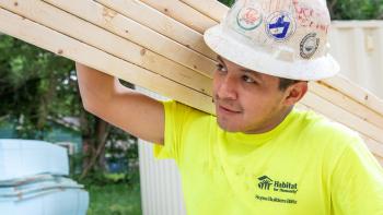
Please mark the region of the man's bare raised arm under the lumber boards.
<svg viewBox="0 0 383 215"><path fill-rule="evenodd" d="M76 63L84 108L105 121L152 143L163 144L163 105L136 93L118 80L86 65Z"/></svg>

